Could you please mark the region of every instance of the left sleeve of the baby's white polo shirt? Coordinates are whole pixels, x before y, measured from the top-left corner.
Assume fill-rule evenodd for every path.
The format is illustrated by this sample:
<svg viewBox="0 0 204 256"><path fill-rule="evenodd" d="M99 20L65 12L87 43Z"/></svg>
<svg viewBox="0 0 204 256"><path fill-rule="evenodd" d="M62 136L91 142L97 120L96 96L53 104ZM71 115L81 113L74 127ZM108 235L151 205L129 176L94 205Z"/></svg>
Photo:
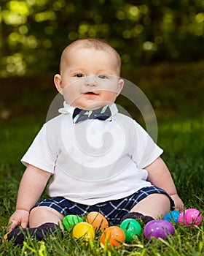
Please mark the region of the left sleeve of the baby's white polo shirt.
<svg viewBox="0 0 204 256"><path fill-rule="evenodd" d="M21 159L21 162L23 162L23 165L34 165L49 173L54 173L56 159L51 154L50 147L47 143L47 129L45 124L36 135L36 138Z"/></svg>

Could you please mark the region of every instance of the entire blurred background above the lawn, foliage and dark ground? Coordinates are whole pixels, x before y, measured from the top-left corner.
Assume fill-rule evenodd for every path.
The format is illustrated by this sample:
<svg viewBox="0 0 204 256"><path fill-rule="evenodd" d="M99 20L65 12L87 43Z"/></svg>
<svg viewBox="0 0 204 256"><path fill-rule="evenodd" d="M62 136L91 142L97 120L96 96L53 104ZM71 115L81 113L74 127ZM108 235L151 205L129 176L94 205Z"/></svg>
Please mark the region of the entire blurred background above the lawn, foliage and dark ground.
<svg viewBox="0 0 204 256"><path fill-rule="evenodd" d="M44 121L60 53L83 37L118 50L122 78L144 91L160 120L204 116L203 0L0 3L0 121ZM118 104L138 118L130 101L119 97Z"/></svg>

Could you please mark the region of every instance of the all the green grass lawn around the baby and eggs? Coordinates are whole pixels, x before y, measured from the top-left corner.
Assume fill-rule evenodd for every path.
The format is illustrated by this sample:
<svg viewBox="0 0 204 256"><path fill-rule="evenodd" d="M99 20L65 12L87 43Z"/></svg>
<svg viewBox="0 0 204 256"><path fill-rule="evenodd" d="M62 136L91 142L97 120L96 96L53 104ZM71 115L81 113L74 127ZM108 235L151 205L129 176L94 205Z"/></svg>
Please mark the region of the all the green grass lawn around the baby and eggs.
<svg viewBox="0 0 204 256"><path fill-rule="evenodd" d="M39 125L16 122L15 127L7 124L1 127L1 135L7 134L2 146L1 155L1 206L0 206L0 238L6 233L7 220L15 210L17 187L24 167L18 160L26 150ZM158 144L165 149L163 158L171 170L179 195L184 200L186 208L197 208L204 215L204 121L162 121L159 122ZM16 130L18 131L16 135ZM8 132L9 131L9 132ZM2 136L4 137L4 136ZM10 146L7 145L6 141ZM1 140L2 141L2 140ZM2 148L2 147L1 147ZM9 149L10 148L10 149ZM7 161L6 161L7 159ZM9 159L12 159L9 161ZM3 181L3 182L2 182ZM50 237L45 243L28 239L22 247L15 248L11 241L0 246L2 255L203 255L204 228L202 222L197 227L175 225L175 233L168 239L155 239L152 243L138 236L134 241L120 248L109 251L99 244L101 233L97 232L93 244L84 246L76 241L71 230L66 232L63 239L60 236ZM44 249L42 254L40 249Z"/></svg>

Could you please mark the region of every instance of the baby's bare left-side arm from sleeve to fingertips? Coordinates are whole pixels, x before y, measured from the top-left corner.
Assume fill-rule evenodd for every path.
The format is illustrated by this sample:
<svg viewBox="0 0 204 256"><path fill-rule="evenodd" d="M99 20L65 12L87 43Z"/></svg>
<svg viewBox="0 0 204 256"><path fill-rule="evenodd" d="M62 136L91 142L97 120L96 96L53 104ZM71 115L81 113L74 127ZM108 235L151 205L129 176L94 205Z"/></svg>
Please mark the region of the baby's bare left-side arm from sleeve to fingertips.
<svg viewBox="0 0 204 256"><path fill-rule="evenodd" d="M28 165L20 181L16 210L9 218L9 232L17 225L23 228L27 227L29 212L42 195L49 178L50 173L33 165Z"/></svg>

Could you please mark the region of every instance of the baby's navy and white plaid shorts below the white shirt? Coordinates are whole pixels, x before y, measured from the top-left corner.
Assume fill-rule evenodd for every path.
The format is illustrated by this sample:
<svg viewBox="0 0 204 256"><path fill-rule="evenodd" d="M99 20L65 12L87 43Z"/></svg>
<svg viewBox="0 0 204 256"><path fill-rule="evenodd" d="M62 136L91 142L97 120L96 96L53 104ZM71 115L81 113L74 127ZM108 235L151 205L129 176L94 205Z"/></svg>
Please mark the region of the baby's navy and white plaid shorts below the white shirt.
<svg viewBox="0 0 204 256"><path fill-rule="evenodd" d="M50 199L44 199L39 203L36 203L34 207L38 206L47 206L54 208L56 211L60 212L64 216L69 214L78 215L80 217L85 216L91 211L100 212L106 219L114 225L119 224L119 220L127 214L131 208L136 206L138 202L143 200L145 197L151 194L164 194L169 197L170 200L170 211L173 211L175 206L172 198L168 195L165 190L157 187L144 187L139 189L133 195L128 197L110 200L103 203L97 203L93 206L83 205L81 203L74 203L71 200L68 200L64 197L52 197Z"/></svg>

